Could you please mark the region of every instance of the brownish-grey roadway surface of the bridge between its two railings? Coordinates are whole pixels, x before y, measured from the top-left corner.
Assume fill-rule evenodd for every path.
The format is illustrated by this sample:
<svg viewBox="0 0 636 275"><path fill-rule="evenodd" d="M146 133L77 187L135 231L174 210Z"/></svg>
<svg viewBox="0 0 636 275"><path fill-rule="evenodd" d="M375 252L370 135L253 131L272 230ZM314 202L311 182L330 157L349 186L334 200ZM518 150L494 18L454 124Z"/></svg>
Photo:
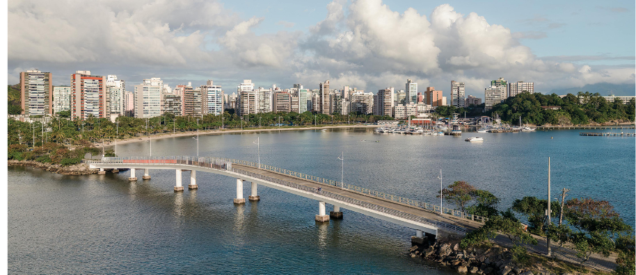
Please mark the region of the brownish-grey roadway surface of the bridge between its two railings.
<svg viewBox="0 0 636 275"><path fill-rule="evenodd" d="M272 171L264 170L264 169L257 169L256 167L249 167L246 165L233 164L233 167L234 169L241 169L246 172L260 174L262 176L278 178L281 181L289 181L299 185L304 185L304 186L307 186L308 188L314 188L314 189L321 188L322 189L321 192L323 192L323 194L326 194L326 195L329 195L329 193L331 193L331 194L342 196L344 198L353 199L356 201L363 201L366 203L374 204L376 206L383 206L385 208L396 210L402 213L407 213L407 214L415 215L418 217L423 217L425 219L432 219L432 220L443 222L446 224L461 226L468 229L468 231L475 230L476 228L479 228L479 226L481 226L481 224L479 224L478 222L473 222L470 219L460 219L457 217L453 217L451 215L440 215L440 213L434 213L430 210L425 210L423 208L409 206L404 203L397 203L395 201L390 201L390 200L382 199L379 197L369 196L367 194L363 194L360 192L354 192L351 190L337 188L336 186L333 186L333 185L317 183L315 181L308 181L304 178L288 176L286 174L280 174L278 172L272 172ZM341 198L338 198L338 199L341 199Z"/></svg>

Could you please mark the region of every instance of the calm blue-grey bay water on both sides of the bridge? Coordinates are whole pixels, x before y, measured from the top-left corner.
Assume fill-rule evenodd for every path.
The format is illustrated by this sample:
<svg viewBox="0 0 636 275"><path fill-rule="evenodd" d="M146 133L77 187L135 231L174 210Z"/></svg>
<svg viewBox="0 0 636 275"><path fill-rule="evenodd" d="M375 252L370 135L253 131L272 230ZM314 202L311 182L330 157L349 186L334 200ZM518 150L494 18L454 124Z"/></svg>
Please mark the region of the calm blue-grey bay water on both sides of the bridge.
<svg viewBox="0 0 636 275"><path fill-rule="evenodd" d="M592 130L593 131L593 130ZM607 131L607 130L605 130ZM468 181L502 199L526 195L610 201L634 224L635 139L579 130L374 134L370 129L201 136L200 156L257 161L411 199L438 201L443 184ZM484 142L465 142L482 136ZM379 141L379 142L376 142ZM152 156L196 155L196 140L152 141ZM148 156L150 142L118 146ZM150 181L121 174L63 176L8 167L8 271L42 274L454 274L408 256L410 228L343 210L317 224L317 201L259 187L261 201L234 206L233 178L199 173L199 190L174 193L172 170ZM184 172L187 184L188 173ZM248 194L246 185L244 194Z"/></svg>

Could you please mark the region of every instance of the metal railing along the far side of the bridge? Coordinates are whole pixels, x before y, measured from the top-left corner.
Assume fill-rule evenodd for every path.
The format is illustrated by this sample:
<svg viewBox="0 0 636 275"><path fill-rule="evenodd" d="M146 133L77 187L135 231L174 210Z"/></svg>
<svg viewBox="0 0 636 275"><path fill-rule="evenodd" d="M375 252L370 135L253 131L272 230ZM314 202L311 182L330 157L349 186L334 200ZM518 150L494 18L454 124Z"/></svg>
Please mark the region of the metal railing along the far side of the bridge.
<svg viewBox="0 0 636 275"><path fill-rule="evenodd" d="M232 163L245 165L249 167L255 167L255 168L258 168L259 166L258 163L253 163L251 161L246 161L246 160L234 160L231 158L196 157L196 156L107 157L107 158L102 158L102 160L84 160L84 163L150 163L150 164L157 163L157 164L196 165L200 167L208 167L213 169L227 169L227 170L232 169ZM216 167L212 167L211 166L212 164L216 165ZM418 208L424 208L426 210L440 213L440 206L436 206L434 203L428 203L426 201L416 201L413 199L395 196L393 194L387 194L384 192L374 191L367 188L361 188L359 186L351 185L351 184L342 185L342 183L338 181L332 181L326 178L311 176L308 174L294 172L287 169L273 167L270 165L261 164L260 169L267 169L269 171L285 174L287 176L294 176L296 178L303 178L308 181L324 183L324 184L332 185L338 188L347 189L353 192L368 194L370 196L379 197L382 199L395 201L397 203L402 203L409 206L415 206ZM442 208L441 212L445 215L451 215L453 217L457 217L460 219L470 219L472 221L479 222L482 224L488 221L488 218L486 217L468 214L468 213L465 213L459 210L454 210L451 208Z"/></svg>

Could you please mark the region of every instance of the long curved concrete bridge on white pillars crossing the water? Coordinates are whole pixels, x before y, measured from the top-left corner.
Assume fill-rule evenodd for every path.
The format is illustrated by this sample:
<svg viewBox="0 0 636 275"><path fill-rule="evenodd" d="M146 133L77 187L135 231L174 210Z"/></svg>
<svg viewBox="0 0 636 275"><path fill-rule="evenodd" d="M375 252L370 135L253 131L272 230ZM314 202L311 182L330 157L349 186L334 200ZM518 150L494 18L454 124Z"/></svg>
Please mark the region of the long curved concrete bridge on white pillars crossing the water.
<svg viewBox="0 0 636 275"><path fill-rule="evenodd" d="M415 201L392 194L377 192L355 185L343 184L325 178L310 176L298 172L228 158L207 158L195 156L158 156L130 158L102 158L85 160L90 168L130 169L129 181L137 181L136 170L143 169L143 179L150 180L150 169L175 170L175 192L183 192L182 173L190 172L189 189L197 189L196 172L209 172L236 178L237 195L234 203L245 203L244 182L251 183L250 201L260 200L257 186L296 194L318 201L317 222L329 219L342 219L340 208L383 219L388 222L415 229L414 243L436 238L438 231L465 234L481 226L486 219L477 215L462 213L450 208L440 208L432 203ZM319 190L320 188L320 190ZM326 215L326 204L333 206L330 215Z"/></svg>

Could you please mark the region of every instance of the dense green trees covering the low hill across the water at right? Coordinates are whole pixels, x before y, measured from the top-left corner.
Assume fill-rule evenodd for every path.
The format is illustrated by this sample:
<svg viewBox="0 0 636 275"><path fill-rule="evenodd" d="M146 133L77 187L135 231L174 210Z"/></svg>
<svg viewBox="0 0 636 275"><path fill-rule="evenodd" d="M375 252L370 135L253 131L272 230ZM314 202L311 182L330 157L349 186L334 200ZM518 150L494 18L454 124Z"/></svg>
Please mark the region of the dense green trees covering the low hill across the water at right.
<svg viewBox="0 0 636 275"><path fill-rule="evenodd" d="M541 106L559 106L559 110L543 109ZM601 94L579 92L578 95L541 94L522 92L495 104L491 115L499 115L502 121L512 124L589 124L591 122L633 122L635 101L623 104L619 99L608 102Z"/></svg>

